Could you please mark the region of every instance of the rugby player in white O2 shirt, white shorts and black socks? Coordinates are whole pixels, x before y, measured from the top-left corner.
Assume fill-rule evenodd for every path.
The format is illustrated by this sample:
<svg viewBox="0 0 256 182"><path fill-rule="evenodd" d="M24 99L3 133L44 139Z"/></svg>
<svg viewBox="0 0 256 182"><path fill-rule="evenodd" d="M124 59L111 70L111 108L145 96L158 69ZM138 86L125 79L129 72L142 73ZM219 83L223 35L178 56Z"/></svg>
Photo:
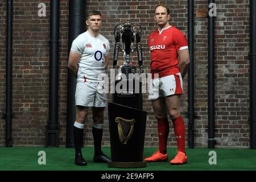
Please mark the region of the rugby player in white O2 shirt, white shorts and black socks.
<svg viewBox="0 0 256 182"><path fill-rule="evenodd" d="M109 41L100 35L101 13L89 11L86 16L88 30L73 40L69 53L68 68L77 77L76 121L74 123L75 164L86 166L81 147L84 123L89 107L93 113L94 157L96 163L108 163L109 158L101 151L104 109L107 96L104 92L105 69L109 62Z"/></svg>

